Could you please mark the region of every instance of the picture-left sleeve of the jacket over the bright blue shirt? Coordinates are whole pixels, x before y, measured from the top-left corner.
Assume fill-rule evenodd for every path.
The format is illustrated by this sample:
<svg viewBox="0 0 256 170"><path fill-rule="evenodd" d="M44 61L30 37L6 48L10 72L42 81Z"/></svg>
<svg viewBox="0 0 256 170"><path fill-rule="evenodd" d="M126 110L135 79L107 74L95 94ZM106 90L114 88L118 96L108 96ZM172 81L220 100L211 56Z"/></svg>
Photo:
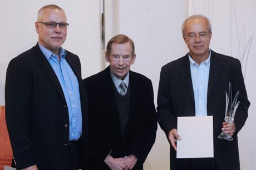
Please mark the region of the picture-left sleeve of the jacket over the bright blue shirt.
<svg viewBox="0 0 256 170"><path fill-rule="evenodd" d="M36 164L29 136L32 76L26 64L19 58L14 58L9 63L6 74L6 123L17 169Z"/></svg>

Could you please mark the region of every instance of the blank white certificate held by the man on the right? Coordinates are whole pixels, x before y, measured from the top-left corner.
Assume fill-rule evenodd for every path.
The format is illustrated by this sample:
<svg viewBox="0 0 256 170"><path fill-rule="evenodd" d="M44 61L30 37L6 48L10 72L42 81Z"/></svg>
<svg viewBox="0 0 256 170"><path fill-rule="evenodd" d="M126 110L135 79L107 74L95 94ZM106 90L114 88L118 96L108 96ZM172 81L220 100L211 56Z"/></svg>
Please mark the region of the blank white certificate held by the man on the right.
<svg viewBox="0 0 256 170"><path fill-rule="evenodd" d="M213 158L213 116L178 117L177 158Z"/></svg>

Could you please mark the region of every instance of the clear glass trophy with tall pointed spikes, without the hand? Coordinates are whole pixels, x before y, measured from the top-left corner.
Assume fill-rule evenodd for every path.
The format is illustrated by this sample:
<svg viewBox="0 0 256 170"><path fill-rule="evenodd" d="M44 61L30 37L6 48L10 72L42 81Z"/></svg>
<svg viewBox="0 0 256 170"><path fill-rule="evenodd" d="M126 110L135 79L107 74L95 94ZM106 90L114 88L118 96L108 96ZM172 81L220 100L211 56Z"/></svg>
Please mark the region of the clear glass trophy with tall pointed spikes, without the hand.
<svg viewBox="0 0 256 170"><path fill-rule="evenodd" d="M235 97L232 101L232 86L229 82L229 89L228 94L226 91L226 109L225 109L225 122L232 123L235 119L235 112L237 111L237 108L239 106L240 101L237 102L239 91L237 94L235 94ZM232 136L230 134L225 134L224 132L221 132L218 136L220 139L226 139L228 141L233 141Z"/></svg>

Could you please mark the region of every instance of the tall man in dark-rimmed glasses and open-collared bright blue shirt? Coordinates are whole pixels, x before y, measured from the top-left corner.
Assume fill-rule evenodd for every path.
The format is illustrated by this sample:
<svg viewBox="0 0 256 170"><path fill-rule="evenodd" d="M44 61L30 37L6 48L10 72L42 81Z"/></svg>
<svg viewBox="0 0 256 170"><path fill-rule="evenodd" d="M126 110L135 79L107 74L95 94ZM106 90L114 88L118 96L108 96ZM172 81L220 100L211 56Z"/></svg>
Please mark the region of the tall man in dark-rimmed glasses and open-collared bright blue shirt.
<svg viewBox="0 0 256 170"><path fill-rule="evenodd" d="M17 169L85 166L87 94L80 59L61 47L67 27L62 8L42 7L38 43L7 68L6 122Z"/></svg>

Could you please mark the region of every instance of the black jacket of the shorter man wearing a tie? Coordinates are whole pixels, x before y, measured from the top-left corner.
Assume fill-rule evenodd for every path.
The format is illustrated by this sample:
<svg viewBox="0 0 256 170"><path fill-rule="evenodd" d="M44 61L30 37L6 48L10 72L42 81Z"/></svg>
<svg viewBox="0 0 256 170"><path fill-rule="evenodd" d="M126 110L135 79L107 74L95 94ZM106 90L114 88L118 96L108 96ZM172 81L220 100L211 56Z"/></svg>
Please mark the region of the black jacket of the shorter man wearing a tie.
<svg viewBox="0 0 256 170"><path fill-rule="evenodd" d="M110 151L114 158L134 154L138 158L134 169L142 169L157 129L150 79L130 71L130 114L123 136L110 67L83 82L89 103L89 169L109 169L104 159Z"/></svg>

